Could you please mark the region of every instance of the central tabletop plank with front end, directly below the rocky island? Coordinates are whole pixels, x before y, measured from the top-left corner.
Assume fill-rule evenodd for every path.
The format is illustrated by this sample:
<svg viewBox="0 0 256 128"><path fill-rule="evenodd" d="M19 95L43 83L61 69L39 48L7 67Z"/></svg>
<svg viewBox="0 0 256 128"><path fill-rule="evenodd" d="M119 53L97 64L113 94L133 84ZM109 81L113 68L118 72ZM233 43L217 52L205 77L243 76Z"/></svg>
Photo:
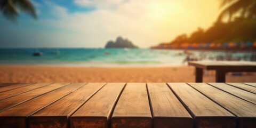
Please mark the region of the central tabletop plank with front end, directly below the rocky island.
<svg viewBox="0 0 256 128"><path fill-rule="evenodd" d="M128 83L111 117L113 128L152 127L152 116L149 107L145 83Z"/></svg>

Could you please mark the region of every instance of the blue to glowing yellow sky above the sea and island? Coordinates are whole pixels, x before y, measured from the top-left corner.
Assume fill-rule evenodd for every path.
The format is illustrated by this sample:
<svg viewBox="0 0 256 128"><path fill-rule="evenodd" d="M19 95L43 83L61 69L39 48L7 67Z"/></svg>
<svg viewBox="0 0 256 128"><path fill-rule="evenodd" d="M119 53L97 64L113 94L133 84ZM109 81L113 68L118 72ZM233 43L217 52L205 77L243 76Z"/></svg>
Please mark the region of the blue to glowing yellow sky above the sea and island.
<svg viewBox="0 0 256 128"><path fill-rule="evenodd" d="M219 0L33 0L38 19L0 14L0 47L104 47L117 36L139 47L208 28Z"/></svg>

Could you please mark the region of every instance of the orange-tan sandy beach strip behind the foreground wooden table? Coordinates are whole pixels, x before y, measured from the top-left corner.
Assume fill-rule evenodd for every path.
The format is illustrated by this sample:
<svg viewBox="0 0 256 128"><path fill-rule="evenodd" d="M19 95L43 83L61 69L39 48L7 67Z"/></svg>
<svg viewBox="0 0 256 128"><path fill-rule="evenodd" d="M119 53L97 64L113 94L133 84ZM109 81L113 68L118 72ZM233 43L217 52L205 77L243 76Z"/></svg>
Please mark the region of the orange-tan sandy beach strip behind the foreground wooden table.
<svg viewBox="0 0 256 128"><path fill-rule="evenodd" d="M52 67L0 66L0 83L18 82L195 82L194 67ZM204 82L214 82L214 71L204 74ZM255 73L227 74L227 82L256 82Z"/></svg>

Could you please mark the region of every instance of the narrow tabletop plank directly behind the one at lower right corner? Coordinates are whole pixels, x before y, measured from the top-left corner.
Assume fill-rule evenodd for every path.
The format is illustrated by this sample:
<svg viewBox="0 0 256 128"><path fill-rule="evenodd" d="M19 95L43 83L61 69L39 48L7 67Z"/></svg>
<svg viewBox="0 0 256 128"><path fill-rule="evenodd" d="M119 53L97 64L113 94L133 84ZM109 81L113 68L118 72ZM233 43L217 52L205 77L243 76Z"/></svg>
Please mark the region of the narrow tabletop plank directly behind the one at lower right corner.
<svg viewBox="0 0 256 128"><path fill-rule="evenodd" d="M256 105L256 94L238 89L237 87L230 86L230 85L227 85L225 83L209 83L209 84L211 84L212 86L217 87L218 89L220 89L222 91L233 94L236 97L239 97L239 98L242 98L246 101L252 102Z"/></svg>

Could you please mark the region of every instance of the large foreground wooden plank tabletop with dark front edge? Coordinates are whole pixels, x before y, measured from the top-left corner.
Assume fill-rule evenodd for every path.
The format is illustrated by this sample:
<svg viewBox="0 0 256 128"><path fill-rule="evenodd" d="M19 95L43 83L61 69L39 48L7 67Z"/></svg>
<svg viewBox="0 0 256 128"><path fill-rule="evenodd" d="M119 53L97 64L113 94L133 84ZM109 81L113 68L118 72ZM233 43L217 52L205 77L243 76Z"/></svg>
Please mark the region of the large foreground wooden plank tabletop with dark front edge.
<svg viewBox="0 0 256 128"><path fill-rule="evenodd" d="M256 83L0 83L0 127L256 127Z"/></svg>

